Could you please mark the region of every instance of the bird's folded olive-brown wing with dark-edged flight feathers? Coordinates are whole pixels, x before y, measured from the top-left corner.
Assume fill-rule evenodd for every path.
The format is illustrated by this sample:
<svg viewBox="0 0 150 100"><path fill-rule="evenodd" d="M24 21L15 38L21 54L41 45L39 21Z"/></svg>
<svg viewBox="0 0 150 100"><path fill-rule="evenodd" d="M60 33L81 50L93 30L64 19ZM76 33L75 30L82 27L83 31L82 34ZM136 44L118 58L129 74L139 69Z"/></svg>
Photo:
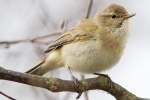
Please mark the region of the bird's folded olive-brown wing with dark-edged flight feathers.
<svg viewBox="0 0 150 100"><path fill-rule="evenodd" d="M44 53L51 52L68 43L83 41L84 39L91 38L96 30L97 27L94 25L78 25L53 41Z"/></svg>

